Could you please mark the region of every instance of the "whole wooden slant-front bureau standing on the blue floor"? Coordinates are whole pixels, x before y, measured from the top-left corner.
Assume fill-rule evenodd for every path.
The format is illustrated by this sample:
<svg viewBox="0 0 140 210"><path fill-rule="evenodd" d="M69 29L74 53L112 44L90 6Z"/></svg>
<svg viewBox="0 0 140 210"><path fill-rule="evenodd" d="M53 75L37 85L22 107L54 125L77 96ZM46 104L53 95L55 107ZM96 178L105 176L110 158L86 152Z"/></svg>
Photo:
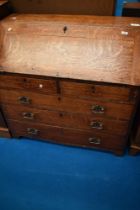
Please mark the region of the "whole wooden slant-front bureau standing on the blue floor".
<svg viewBox="0 0 140 210"><path fill-rule="evenodd" d="M0 42L13 137L123 154L139 98L139 19L14 14Z"/></svg>

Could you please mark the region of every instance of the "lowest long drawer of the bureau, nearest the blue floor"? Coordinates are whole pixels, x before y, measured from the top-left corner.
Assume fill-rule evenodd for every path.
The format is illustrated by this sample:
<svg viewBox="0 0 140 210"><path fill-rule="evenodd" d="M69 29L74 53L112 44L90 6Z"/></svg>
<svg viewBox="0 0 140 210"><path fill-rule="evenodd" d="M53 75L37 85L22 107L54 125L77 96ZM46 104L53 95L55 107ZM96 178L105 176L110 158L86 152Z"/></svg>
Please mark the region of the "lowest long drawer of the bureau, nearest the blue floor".
<svg viewBox="0 0 140 210"><path fill-rule="evenodd" d="M126 144L126 139L120 136L96 134L82 130L64 129L13 120L9 121L9 126L15 137L24 136L68 145L105 149L123 149Z"/></svg>

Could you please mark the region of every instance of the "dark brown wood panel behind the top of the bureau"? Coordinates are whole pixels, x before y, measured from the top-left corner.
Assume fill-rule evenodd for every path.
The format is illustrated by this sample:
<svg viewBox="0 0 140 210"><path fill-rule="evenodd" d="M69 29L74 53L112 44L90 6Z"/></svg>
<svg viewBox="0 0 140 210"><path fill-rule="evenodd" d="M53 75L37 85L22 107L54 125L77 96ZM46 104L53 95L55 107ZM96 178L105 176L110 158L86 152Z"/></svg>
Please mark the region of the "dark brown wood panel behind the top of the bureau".
<svg viewBox="0 0 140 210"><path fill-rule="evenodd" d="M18 13L113 15L115 0L10 0Z"/></svg>

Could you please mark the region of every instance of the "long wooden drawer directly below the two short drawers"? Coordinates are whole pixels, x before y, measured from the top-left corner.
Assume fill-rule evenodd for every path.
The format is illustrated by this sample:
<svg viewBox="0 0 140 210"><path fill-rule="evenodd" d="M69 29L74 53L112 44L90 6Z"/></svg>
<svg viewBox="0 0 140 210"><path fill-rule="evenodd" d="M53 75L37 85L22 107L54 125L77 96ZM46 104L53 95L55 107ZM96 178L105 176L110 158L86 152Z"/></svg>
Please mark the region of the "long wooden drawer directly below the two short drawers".
<svg viewBox="0 0 140 210"><path fill-rule="evenodd" d="M134 110L134 106L130 104L57 97L26 91L0 90L0 95L2 104L22 104L28 107L84 113L120 120L130 120Z"/></svg>

